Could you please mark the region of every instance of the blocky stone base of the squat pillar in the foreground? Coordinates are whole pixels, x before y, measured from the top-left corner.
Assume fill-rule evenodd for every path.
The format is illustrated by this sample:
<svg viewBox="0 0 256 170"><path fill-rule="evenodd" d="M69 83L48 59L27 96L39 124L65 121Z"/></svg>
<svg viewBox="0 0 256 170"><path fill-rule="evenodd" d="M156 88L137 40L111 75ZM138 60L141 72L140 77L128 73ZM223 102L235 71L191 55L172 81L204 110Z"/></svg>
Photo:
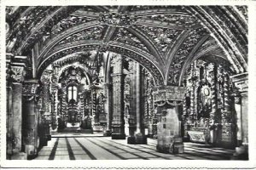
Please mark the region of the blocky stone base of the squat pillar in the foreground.
<svg viewBox="0 0 256 170"><path fill-rule="evenodd" d="M161 153L181 154L184 152L184 144L181 137L164 137L158 139L156 150Z"/></svg>

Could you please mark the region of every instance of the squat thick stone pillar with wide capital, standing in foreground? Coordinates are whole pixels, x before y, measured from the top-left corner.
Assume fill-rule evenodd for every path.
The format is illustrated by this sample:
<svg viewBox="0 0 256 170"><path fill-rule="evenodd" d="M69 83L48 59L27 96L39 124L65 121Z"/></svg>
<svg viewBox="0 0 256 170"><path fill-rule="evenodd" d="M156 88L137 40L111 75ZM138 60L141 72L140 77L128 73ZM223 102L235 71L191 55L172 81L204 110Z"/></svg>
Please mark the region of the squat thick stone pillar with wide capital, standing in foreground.
<svg viewBox="0 0 256 170"><path fill-rule="evenodd" d="M183 153L181 115L183 111L183 87L162 87L154 90L154 103L160 113L157 123L157 150L165 153Z"/></svg>

